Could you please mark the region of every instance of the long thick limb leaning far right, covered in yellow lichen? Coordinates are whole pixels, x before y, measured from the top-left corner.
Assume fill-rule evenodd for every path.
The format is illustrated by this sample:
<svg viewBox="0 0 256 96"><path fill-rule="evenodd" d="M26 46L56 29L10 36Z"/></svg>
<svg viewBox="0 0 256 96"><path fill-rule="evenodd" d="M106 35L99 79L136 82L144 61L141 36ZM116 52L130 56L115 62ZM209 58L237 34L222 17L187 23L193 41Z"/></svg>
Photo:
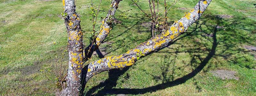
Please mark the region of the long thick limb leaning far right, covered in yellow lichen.
<svg viewBox="0 0 256 96"><path fill-rule="evenodd" d="M182 33L186 32L188 27L200 18L211 1L212 0L200 0L191 11L187 12L180 20L175 21L167 31L139 44L134 49L119 56L108 56L91 62L83 68L84 71L87 72L84 81L87 82L92 76L100 72L131 66L137 61L138 54L139 56L147 55L150 52L164 47Z"/></svg>

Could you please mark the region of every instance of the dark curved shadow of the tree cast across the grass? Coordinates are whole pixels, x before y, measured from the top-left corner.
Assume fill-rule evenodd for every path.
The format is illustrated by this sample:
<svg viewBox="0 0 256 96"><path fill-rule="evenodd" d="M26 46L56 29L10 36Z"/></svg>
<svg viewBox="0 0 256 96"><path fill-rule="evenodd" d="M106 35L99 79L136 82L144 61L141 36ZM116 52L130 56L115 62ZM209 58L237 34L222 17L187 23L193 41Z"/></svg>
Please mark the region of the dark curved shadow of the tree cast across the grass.
<svg viewBox="0 0 256 96"><path fill-rule="evenodd" d="M241 20L240 17L238 17L238 18ZM215 20L216 21L216 25L214 25L214 26L207 25L206 22L209 19L210 20ZM209 67L211 67L211 66L208 66L207 68L205 68L205 66L209 62L209 60L211 60L211 58L214 57L214 56L221 56L221 57L225 58L227 55L231 55L232 53L228 54L226 51L227 50L232 50L232 47L237 46L237 44L234 44L234 43L230 44L228 42L223 42L223 41L221 41L222 43L224 43L224 46L223 46L223 48L220 51L221 53L216 54L216 48L217 48L218 42L220 42L220 41L217 42L216 34L220 30L219 29L220 26L226 27L227 28L226 30L228 30L228 31L236 32L235 29L228 28L228 27L240 26L241 28L243 28L243 25L239 24L241 22L239 22L239 20L237 20L237 18L234 18L232 20L223 20L222 18L220 18L218 16L213 16L213 15L210 15L210 16L207 15L205 17L202 17L201 21L203 21L203 22L199 23L199 21L197 21L194 24L195 27L193 27L194 29L192 30L192 32L186 33L185 35L175 39L173 42L171 42L170 44L168 44L167 46L164 47L164 48L166 48L169 45L174 44L177 40L180 40L181 38L184 38L184 37L187 37L187 36L195 36L195 35L200 35L200 36L202 36L203 38L205 38L206 40L208 40L208 41L210 41L212 43L210 49L205 49L203 51L200 48L199 49L198 48L196 48L196 49L192 48L191 50L188 49L186 51L178 51L178 49L176 49L175 52L167 52L167 53L176 53L176 54L180 53L180 52L207 54L207 56L204 59L201 58L200 55L193 55L193 58L191 59L191 62L190 62L191 63L190 66L191 67L195 67L195 69L193 69L193 71L190 72L189 74L187 74L185 76L182 76L182 77L180 77L178 79L175 79L175 80L173 80L173 77L172 77L171 78L172 81L171 81L170 79L166 78L167 72L162 72L162 75L163 75L163 77L165 79L165 80L163 79L163 83L162 84L157 84L155 86L151 86L151 87L147 87L147 88L142 88L142 89L138 89L138 88L135 88L135 89L121 88L120 89L120 88L113 88L113 87L116 86L116 82L117 82L118 78L120 76L122 76L130 67L129 68L124 68L124 69L110 70L110 72L108 73L109 74L108 75L109 78L105 82L102 82L99 85L97 85L97 86L93 87L92 89L90 89L86 93L86 96L90 96L97 89L100 89L102 87L104 87L104 88L100 89L96 94L93 94L93 95L97 95L97 96L99 96L99 95L102 96L102 95L106 95L106 94L133 94L133 95L136 95L136 94L144 94L144 93L147 93L147 92L155 92L157 90L162 90L162 89L165 89L165 88L168 88L168 87L172 87L172 86L176 86L176 85L179 85L179 84L183 84L187 80L189 80L189 79L193 78L194 76L196 76L203 69L207 71L209 69ZM230 23L230 24L223 24L224 22L228 22L228 21L232 21L232 23ZM205 29L202 28L202 25L206 26L207 30L212 30L212 34L204 32ZM224 34L224 33L219 33L219 34ZM222 37L222 38L224 38L225 40L231 41L229 36L234 36L234 35L229 34L229 33L225 33L225 34L228 34L228 36L227 37ZM236 35L236 37L244 38L243 35ZM243 40L244 40L244 41L242 41L243 43L250 43L246 39L243 39ZM207 46L209 46L207 44L200 44L200 43L199 43L199 45L204 45L204 47L206 47L206 48L207 48ZM240 50L240 51L244 51L244 50ZM157 52L159 52L159 51L157 51ZM192 65L192 63L196 62L195 61L196 58L198 58L200 60L200 63ZM167 66L164 66L164 67L170 67L170 66L167 65ZM166 69L164 67L163 67L163 71L168 71L168 69ZM156 76L154 76L154 78L155 79L159 79L159 77L156 77Z"/></svg>

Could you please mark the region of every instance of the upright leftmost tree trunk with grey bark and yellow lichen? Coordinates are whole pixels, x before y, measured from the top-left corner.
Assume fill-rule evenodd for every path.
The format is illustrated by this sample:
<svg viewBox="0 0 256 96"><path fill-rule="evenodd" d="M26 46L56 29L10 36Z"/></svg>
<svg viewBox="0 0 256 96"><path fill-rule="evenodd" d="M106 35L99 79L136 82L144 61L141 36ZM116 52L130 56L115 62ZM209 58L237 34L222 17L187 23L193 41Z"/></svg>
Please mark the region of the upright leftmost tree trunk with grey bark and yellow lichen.
<svg viewBox="0 0 256 96"><path fill-rule="evenodd" d="M63 3L65 13L65 25L68 33L68 76L67 87L59 92L61 96L78 96L81 89L81 74L83 64L83 35L80 27L80 17L76 13L74 0L65 0Z"/></svg>

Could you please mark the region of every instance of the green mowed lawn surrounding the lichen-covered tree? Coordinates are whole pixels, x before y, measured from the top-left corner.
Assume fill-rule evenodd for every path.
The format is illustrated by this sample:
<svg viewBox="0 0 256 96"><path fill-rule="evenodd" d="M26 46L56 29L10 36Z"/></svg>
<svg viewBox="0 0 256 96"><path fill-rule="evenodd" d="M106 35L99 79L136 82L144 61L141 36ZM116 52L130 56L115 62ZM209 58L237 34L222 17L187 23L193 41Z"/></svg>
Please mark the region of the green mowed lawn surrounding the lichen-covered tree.
<svg viewBox="0 0 256 96"><path fill-rule="evenodd" d="M98 6L100 0L93 0ZM180 0L172 24L198 0ZM77 0L84 46L92 33L91 0ZM164 12L164 1L159 0ZM172 0L167 0L172 5ZM255 0L212 0L203 16L170 45L133 66L102 72L87 83L87 96L256 96ZM96 31L110 0L102 0ZM147 0L138 5L149 14ZM61 0L0 0L0 96L53 96L67 68L67 32ZM127 14L127 18L120 17ZM150 20L130 0L120 2L113 29L100 46L105 56L123 54L151 38ZM63 59L62 59L63 57ZM95 54L92 60L99 59ZM63 69L64 69L63 67ZM66 70L65 68L65 70ZM217 71L216 71L217 70ZM220 78L216 73L222 74ZM234 73L234 74L230 74ZM235 77L233 79L225 78Z"/></svg>

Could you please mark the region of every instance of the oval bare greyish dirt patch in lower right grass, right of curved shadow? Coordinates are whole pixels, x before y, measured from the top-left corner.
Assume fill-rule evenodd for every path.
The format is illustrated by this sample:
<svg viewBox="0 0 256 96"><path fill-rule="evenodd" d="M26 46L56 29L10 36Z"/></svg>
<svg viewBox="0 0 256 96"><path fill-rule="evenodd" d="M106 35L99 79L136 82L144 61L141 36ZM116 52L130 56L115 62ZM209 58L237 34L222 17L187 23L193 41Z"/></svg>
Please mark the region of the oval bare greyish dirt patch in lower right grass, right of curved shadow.
<svg viewBox="0 0 256 96"><path fill-rule="evenodd" d="M222 80L225 80L225 79L239 80L239 78L235 76L236 71L215 70L215 71L211 71L210 73L212 73L214 76L220 77Z"/></svg>

